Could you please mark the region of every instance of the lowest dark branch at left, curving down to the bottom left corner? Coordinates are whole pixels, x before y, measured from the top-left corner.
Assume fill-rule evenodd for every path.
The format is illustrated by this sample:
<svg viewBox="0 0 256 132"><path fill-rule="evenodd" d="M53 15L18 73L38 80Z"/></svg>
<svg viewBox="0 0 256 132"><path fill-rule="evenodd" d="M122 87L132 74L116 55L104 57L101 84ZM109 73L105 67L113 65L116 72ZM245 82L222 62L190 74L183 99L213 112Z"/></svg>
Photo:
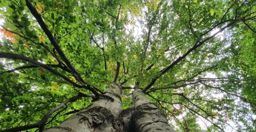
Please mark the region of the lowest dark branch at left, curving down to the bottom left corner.
<svg viewBox="0 0 256 132"><path fill-rule="evenodd" d="M94 97L94 95L86 95L86 94L79 93L78 95L76 95L74 97L66 99L65 101L60 103L60 105L58 105L58 106L54 107L53 109L51 109L50 111L48 111L41 120L39 120L38 122L36 122L34 124L28 124L28 125L25 125L25 126L18 126L18 127L15 127L15 128L0 130L0 132L19 132L19 131L23 131L23 130L29 130L29 129L32 129L32 128L39 128L40 132L42 132L44 130L44 126L45 126L47 120L50 118L50 116L54 112L56 112L59 109L61 109L62 107L64 107L64 105L66 105L67 103L74 102L74 101L80 99L81 97Z"/></svg>

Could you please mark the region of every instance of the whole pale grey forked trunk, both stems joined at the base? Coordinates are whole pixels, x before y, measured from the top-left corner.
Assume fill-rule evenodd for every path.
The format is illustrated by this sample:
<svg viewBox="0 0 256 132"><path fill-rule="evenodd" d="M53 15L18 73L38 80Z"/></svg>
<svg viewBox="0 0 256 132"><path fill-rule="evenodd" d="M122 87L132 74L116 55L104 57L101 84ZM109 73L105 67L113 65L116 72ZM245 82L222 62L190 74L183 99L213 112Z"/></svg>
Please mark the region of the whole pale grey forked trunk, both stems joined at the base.
<svg viewBox="0 0 256 132"><path fill-rule="evenodd" d="M175 132L162 111L140 89L133 93L131 109L122 110L121 93L120 84L112 83L86 109L44 132Z"/></svg>

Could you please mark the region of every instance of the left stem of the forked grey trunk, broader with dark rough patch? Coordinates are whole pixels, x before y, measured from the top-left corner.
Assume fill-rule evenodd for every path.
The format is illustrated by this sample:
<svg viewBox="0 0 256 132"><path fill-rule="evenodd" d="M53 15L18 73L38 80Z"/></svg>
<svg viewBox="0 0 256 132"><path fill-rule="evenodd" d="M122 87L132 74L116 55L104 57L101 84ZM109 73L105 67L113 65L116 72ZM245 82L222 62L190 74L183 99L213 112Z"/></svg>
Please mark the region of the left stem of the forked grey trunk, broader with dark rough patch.
<svg viewBox="0 0 256 132"><path fill-rule="evenodd" d="M44 132L116 132L114 121L122 111L121 93L121 85L112 83L110 88L86 109Z"/></svg>

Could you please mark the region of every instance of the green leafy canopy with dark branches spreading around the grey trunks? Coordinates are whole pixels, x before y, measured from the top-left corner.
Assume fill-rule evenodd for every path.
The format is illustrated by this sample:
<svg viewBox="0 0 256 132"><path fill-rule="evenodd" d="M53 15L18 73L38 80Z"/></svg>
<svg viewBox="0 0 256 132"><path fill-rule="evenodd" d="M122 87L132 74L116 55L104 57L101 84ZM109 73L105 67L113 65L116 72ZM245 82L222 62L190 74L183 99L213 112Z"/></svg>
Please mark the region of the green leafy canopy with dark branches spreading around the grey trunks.
<svg viewBox="0 0 256 132"><path fill-rule="evenodd" d="M0 0L0 131L57 126L114 80L123 109L142 89L177 132L255 132L255 5Z"/></svg>

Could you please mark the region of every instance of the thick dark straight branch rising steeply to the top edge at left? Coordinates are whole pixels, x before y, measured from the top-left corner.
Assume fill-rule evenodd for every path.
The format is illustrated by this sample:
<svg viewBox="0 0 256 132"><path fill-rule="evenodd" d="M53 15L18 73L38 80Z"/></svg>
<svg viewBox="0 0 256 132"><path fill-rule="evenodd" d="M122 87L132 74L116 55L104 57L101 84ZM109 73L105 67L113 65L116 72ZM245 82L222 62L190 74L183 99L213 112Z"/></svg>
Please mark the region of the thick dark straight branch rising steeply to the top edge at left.
<svg viewBox="0 0 256 132"><path fill-rule="evenodd" d="M85 84L86 82L82 79L80 73L70 63L70 61L68 60L68 58L66 57L66 55L64 54L64 52L62 51L60 46L58 45L56 39L54 38L54 36L50 32L50 30L47 28L42 17L36 12L36 8L34 8L34 6L31 4L31 2L29 0L26 0L26 6L30 10L31 14L36 18L36 21L38 22L40 27L43 29L44 33L47 35L48 39L50 40L50 42L52 43L53 47L56 49L56 51L58 52L58 54L60 55L62 60L65 62L65 64L68 66L68 68L70 68L70 70L72 71L76 80L78 82L80 82L81 84Z"/></svg>

